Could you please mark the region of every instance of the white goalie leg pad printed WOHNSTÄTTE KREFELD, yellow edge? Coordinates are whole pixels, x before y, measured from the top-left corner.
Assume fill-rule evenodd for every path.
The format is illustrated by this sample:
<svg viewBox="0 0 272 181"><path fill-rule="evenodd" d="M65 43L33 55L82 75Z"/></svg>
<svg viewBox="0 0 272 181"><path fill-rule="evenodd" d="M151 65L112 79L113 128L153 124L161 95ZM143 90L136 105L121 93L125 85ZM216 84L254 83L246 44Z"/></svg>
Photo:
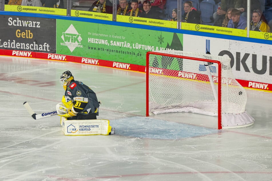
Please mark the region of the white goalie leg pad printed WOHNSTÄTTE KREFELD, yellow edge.
<svg viewBox="0 0 272 181"><path fill-rule="evenodd" d="M61 117L61 126L64 135L109 135L112 131L110 121L106 119L67 120Z"/></svg>

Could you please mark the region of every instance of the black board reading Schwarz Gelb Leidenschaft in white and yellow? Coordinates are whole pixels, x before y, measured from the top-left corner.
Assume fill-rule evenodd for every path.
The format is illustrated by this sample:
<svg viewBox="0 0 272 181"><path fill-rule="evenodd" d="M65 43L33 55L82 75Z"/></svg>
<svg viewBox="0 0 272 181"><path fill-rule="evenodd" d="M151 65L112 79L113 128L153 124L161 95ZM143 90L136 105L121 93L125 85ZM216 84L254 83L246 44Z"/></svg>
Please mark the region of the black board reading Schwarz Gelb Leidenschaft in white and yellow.
<svg viewBox="0 0 272 181"><path fill-rule="evenodd" d="M56 19L0 15L0 49L56 53Z"/></svg>

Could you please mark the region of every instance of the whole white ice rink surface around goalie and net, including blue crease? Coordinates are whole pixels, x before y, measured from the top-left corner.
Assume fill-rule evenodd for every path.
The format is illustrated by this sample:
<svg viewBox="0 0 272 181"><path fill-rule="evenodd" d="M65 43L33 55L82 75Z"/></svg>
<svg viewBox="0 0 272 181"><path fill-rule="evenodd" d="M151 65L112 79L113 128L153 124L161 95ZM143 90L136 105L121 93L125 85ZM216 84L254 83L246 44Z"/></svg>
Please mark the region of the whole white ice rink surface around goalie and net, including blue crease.
<svg viewBox="0 0 272 181"><path fill-rule="evenodd" d="M64 136L53 110L69 70L102 101L116 133ZM0 57L0 180L272 180L272 94L247 90L252 126L217 130L193 113L145 117L145 75L92 65Z"/></svg>

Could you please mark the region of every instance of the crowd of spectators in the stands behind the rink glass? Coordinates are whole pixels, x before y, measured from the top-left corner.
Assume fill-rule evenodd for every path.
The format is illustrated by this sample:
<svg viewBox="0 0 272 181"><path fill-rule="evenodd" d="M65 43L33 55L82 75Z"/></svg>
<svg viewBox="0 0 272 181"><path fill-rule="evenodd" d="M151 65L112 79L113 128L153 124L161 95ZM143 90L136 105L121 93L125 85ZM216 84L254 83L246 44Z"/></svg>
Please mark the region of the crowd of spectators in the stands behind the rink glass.
<svg viewBox="0 0 272 181"><path fill-rule="evenodd" d="M66 0L6 0L9 5L66 8ZM247 29L247 0L117 0L117 15ZM112 0L72 0L72 9L110 13ZM178 14L181 13L181 19ZM272 0L251 0L250 30L272 31Z"/></svg>

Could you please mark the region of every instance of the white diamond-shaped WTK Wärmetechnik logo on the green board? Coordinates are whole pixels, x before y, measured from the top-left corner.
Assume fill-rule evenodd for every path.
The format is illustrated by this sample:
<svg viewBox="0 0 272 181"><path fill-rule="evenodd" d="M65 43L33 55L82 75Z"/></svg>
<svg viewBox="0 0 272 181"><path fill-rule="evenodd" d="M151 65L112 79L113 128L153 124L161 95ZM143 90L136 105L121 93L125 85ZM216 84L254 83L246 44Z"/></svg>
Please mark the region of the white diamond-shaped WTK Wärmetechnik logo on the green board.
<svg viewBox="0 0 272 181"><path fill-rule="evenodd" d="M75 27L71 24L70 27L65 31L62 32L61 39L64 43L61 43L63 46L67 46L71 53L74 51L76 47L83 47L80 42L82 38L80 37L81 34L78 34Z"/></svg>

